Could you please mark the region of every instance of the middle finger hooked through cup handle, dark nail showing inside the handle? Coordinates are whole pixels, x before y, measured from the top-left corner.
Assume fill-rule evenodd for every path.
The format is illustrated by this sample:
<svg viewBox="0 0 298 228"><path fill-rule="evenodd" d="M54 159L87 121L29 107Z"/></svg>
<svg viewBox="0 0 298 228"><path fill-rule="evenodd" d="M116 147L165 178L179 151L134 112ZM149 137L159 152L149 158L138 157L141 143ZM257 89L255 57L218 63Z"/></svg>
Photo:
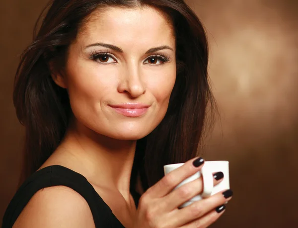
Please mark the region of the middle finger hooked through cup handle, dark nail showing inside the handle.
<svg viewBox="0 0 298 228"><path fill-rule="evenodd" d="M214 173L213 177L213 183L214 186L216 186L223 180L224 174L222 172L217 172ZM180 186L168 195L164 196L162 201L159 202L160 207L164 208L164 210L172 211L194 196L202 193L202 191L203 179L200 177Z"/></svg>

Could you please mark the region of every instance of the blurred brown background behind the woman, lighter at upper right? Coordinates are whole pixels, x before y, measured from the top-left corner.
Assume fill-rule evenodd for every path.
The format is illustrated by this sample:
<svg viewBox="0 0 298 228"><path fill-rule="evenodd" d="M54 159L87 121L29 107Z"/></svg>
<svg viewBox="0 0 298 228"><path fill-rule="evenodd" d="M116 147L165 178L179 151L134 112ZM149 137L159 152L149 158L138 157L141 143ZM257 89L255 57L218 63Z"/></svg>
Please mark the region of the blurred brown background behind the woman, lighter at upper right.
<svg viewBox="0 0 298 228"><path fill-rule="evenodd" d="M230 161L234 197L212 228L298 227L298 1L188 0L206 26L221 118L204 158ZM46 0L0 2L0 217L20 172L19 54Z"/></svg>

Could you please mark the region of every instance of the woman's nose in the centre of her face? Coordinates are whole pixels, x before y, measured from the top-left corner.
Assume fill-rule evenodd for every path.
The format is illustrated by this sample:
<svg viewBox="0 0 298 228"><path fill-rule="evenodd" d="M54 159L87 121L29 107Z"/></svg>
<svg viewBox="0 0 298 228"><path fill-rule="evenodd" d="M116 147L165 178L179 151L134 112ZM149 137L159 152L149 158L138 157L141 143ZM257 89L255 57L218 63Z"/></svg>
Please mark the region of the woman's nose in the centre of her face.
<svg viewBox="0 0 298 228"><path fill-rule="evenodd" d="M124 69L121 73L118 92L127 92L134 98L144 94L146 92L146 85L139 71L136 65Z"/></svg>

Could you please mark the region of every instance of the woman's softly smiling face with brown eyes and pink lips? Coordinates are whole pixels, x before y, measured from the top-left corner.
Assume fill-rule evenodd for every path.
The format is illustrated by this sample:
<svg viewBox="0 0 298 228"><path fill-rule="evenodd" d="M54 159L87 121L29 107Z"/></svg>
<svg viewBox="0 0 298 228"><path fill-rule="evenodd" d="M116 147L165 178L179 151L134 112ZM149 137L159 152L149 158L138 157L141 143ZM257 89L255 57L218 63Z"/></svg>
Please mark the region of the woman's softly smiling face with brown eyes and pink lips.
<svg viewBox="0 0 298 228"><path fill-rule="evenodd" d="M137 140L163 119L176 79L175 38L151 7L93 13L70 46L65 77L75 121L111 138Z"/></svg>

